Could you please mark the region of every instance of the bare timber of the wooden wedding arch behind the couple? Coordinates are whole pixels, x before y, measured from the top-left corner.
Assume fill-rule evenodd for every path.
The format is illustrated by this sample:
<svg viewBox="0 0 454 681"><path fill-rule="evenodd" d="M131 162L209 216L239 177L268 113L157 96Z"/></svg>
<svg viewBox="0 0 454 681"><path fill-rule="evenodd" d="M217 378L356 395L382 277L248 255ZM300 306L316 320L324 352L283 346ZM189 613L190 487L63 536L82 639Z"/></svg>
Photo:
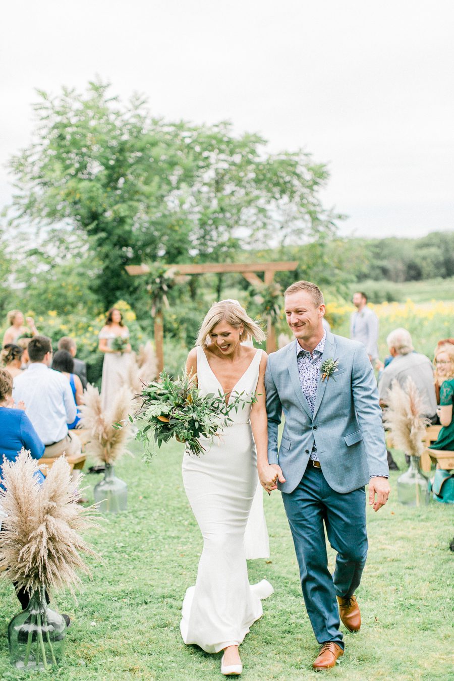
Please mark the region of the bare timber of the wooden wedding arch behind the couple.
<svg viewBox="0 0 454 681"><path fill-rule="evenodd" d="M269 285L274 279L275 272L293 272L298 263L296 260L288 262L253 262L253 263L212 263L207 262L200 265L165 265L167 269L174 270L175 274L226 274L227 272L238 272L244 279L255 286ZM128 265L128 274L138 276L140 274L151 274L152 269L146 265ZM257 272L263 272L263 279L260 279ZM164 368L164 337L163 337L163 318L162 313L159 320L155 319L155 345L158 360L159 372ZM276 350L276 329L271 317L267 317L267 353Z"/></svg>

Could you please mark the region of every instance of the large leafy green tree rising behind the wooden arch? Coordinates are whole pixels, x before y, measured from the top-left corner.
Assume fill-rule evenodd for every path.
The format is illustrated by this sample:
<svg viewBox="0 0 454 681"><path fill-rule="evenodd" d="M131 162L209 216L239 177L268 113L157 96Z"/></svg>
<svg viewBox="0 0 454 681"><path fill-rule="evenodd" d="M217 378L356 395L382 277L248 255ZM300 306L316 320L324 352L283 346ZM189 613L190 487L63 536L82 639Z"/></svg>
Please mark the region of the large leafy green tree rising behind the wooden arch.
<svg viewBox="0 0 454 681"><path fill-rule="evenodd" d="M12 158L14 225L61 225L95 249L91 281L108 305L133 294L125 265L225 260L272 236L323 238L335 229L318 192L323 165L302 153L269 155L256 135L152 118L91 82L83 95L39 92L35 141Z"/></svg>

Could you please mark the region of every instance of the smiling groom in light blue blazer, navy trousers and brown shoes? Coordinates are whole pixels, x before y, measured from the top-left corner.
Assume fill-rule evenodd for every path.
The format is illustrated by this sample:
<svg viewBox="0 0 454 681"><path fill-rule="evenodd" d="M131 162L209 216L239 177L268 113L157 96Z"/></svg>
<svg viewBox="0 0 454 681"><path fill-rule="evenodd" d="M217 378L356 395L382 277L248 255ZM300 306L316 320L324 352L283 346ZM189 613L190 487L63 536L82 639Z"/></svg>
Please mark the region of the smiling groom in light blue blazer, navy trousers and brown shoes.
<svg viewBox="0 0 454 681"><path fill-rule="evenodd" d="M265 490L282 491L304 602L321 644L314 669L334 667L344 653L339 615L349 631L361 626L355 590L368 550L364 486L374 511L389 495L372 365L361 343L323 330L324 314L315 284L297 281L285 291L295 340L268 358L268 461L257 462ZM323 525L338 552L332 577Z"/></svg>

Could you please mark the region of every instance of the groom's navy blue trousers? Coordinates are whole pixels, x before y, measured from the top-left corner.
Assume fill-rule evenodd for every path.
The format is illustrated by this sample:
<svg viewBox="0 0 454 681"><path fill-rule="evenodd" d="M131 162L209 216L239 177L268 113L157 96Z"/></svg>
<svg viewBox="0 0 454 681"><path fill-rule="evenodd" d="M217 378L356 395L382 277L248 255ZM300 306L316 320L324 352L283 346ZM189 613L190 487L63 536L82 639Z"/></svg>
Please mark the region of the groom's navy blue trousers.
<svg viewBox="0 0 454 681"><path fill-rule="evenodd" d="M336 596L353 595L368 553L366 490L347 494L332 490L321 469L308 462L302 481L282 494L289 520L304 603L317 641L334 641L344 648ZM328 570L325 529L338 552L336 569Z"/></svg>

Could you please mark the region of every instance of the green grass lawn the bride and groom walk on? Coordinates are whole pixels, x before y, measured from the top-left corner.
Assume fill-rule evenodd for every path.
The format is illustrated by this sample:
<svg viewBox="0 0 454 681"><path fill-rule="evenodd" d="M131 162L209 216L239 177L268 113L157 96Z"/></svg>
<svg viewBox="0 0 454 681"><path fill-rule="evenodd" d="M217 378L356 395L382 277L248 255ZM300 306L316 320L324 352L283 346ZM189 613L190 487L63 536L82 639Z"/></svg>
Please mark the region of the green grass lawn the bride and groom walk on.
<svg viewBox="0 0 454 681"><path fill-rule="evenodd" d="M220 656L180 637L180 607L194 584L201 537L182 488L182 445L167 445L147 466L126 457L117 467L129 486L129 510L103 521L91 541L105 563L93 563L75 605L54 597L74 622L67 634L66 666L48 678L68 681L129 679L212 680L221 677ZM404 468L401 456L398 463ZM453 679L453 508L431 503L408 508L397 501L396 478L388 505L368 509L369 558L358 591L363 626L346 633L346 653L330 678L348 681ZM87 475L89 496L97 475ZM247 680L316 678L318 646L304 609L297 564L280 493L265 498L270 561L249 563L251 582L263 577L275 593L263 601L241 648ZM334 565L334 552L329 556ZM451 601L451 602L450 602ZM10 666L7 624L18 612L12 587L0 591L0 678L35 678ZM43 673L41 673L43 674Z"/></svg>

